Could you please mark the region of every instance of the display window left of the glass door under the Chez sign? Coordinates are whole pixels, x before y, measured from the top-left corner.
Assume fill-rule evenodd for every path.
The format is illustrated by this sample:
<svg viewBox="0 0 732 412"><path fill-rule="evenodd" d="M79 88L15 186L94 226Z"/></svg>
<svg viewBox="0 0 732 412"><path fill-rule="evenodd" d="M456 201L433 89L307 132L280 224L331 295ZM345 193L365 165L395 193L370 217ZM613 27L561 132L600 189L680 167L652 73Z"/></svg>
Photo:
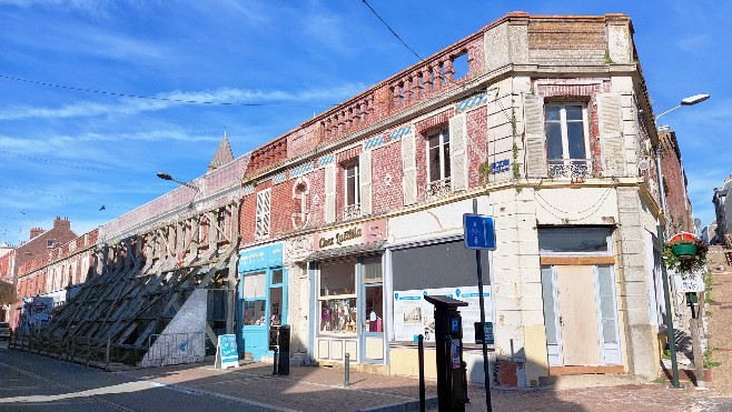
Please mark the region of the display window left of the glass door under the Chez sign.
<svg viewBox="0 0 732 412"><path fill-rule="evenodd" d="M356 262L320 265L320 331L356 333Z"/></svg>

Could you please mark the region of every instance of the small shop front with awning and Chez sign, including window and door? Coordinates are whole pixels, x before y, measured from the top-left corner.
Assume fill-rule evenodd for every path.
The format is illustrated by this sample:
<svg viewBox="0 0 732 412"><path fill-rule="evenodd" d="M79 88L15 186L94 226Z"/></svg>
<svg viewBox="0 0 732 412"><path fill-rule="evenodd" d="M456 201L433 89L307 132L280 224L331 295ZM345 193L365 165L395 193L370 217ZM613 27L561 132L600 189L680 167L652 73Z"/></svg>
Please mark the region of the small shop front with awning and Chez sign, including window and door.
<svg viewBox="0 0 732 412"><path fill-rule="evenodd" d="M384 243L386 221L318 232L307 258L311 281L310 352L319 361L386 362Z"/></svg>

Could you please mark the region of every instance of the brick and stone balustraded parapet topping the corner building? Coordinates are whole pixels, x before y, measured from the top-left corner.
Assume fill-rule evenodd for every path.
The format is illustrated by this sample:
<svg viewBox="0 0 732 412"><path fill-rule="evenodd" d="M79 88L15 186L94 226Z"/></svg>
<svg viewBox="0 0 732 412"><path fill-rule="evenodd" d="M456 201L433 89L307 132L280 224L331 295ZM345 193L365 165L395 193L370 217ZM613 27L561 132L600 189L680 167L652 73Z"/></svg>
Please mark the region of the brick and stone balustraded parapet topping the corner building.
<svg viewBox="0 0 732 412"><path fill-rule="evenodd" d="M632 34L625 14L508 13L254 150L243 181L251 183L251 192L268 178L275 182L295 178L333 161L328 154L334 150L396 131L447 100L469 98L477 88L515 74L568 79L623 72L633 77L636 104L643 112L640 133L655 145L653 108ZM467 63L467 72L456 72L458 62ZM644 177L657 198L652 173Z"/></svg>

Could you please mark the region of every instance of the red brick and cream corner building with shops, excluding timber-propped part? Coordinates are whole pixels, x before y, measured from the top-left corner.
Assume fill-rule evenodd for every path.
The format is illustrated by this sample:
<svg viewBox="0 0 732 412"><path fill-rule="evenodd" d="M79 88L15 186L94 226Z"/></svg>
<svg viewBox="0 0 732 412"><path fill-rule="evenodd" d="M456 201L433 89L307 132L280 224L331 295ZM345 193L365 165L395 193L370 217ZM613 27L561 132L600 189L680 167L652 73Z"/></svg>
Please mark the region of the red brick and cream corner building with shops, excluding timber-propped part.
<svg viewBox="0 0 732 412"><path fill-rule="evenodd" d="M464 359L483 380L462 244L475 199L496 219L499 383L657 375L659 191L639 169L657 135L632 39L621 14L510 13L254 151L244 351L266 356L285 321L304 358L415 374L416 335L434 340L422 297L448 294L471 304Z"/></svg>

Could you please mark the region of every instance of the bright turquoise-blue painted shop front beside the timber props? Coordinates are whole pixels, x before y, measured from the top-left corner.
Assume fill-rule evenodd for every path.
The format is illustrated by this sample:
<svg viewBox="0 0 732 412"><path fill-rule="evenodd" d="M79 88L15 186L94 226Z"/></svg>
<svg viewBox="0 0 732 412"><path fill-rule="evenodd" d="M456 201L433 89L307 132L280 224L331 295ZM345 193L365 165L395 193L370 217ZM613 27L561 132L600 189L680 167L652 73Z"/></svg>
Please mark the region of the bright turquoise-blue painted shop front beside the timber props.
<svg viewBox="0 0 732 412"><path fill-rule="evenodd" d="M287 271L283 243L239 252L239 352L260 360L269 351L269 328L287 323Z"/></svg>

